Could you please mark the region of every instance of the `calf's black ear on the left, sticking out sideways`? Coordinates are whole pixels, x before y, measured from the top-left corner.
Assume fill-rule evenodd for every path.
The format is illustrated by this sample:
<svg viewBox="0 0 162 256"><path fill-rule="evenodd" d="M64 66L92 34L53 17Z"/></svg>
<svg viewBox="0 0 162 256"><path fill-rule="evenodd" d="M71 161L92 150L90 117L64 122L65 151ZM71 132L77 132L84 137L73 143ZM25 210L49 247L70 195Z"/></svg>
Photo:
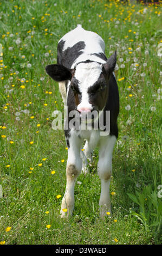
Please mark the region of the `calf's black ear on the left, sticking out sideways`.
<svg viewBox="0 0 162 256"><path fill-rule="evenodd" d="M53 78L53 80L60 82L64 80L71 80L73 69L67 69L65 66L60 64L52 64L46 66L47 74Z"/></svg>

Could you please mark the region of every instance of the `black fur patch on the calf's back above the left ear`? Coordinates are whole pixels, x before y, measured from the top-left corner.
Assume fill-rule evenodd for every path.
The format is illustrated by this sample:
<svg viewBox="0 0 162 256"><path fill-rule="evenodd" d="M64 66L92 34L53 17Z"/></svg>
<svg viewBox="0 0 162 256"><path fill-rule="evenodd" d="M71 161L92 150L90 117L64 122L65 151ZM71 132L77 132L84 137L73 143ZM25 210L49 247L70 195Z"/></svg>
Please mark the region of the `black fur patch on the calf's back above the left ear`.
<svg viewBox="0 0 162 256"><path fill-rule="evenodd" d="M57 63L66 68L71 68L75 60L83 53L81 50L85 48L85 42L77 42L72 47L68 47L63 51L65 41L61 40L57 45Z"/></svg>

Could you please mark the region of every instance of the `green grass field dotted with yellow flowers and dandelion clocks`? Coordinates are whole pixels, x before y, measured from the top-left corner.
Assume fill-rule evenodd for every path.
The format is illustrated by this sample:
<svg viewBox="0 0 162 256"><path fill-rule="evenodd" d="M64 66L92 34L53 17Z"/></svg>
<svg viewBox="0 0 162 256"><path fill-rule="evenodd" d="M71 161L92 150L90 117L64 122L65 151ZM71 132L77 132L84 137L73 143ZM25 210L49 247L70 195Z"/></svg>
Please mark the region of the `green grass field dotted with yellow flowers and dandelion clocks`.
<svg viewBox="0 0 162 256"><path fill-rule="evenodd" d="M1 244L161 243L160 10L106 0L1 1ZM118 54L113 215L105 220L99 217L98 149L90 174L77 179L73 217L60 218L67 146L64 132L51 129L51 114L63 112L63 102L44 68L56 63L57 42L77 24L102 36L107 57Z"/></svg>

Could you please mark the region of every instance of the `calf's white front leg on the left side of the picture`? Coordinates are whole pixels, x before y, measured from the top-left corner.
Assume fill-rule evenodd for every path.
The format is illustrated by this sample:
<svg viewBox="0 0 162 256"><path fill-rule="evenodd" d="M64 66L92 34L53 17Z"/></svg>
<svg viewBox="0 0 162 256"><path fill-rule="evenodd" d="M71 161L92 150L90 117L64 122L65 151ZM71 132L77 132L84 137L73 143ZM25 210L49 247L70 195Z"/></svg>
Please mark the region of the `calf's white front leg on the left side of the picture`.
<svg viewBox="0 0 162 256"><path fill-rule="evenodd" d="M72 131L71 131L72 132ZM75 132L71 133L68 149L68 161L67 161L67 185L64 197L61 204L61 217L67 217L73 214L74 209L74 186L77 176L81 172L82 160L80 157L82 141ZM67 212L63 211L67 209Z"/></svg>

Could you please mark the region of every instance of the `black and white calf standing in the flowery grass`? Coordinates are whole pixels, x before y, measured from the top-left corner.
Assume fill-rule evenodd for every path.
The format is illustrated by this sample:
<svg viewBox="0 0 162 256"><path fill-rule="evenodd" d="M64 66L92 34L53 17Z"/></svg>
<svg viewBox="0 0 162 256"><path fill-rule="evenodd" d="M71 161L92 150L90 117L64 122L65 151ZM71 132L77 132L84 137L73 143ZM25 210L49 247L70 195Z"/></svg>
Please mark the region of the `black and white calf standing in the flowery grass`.
<svg viewBox="0 0 162 256"><path fill-rule="evenodd" d="M76 110L81 116L95 109L104 116L106 111L110 111L109 135L101 136L100 129L65 130L68 145L67 186L62 199L61 217L73 213L75 181L81 170L87 172L87 159L92 161L95 147L99 147L100 216L105 216L107 211L111 212L109 185L112 175L112 153L118 137L116 121L119 114L118 86L113 73L115 64L116 52L107 59L102 38L77 25L73 31L60 39L57 46L57 64L46 66L47 74L59 82L64 104L68 106L68 114ZM67 212L64 212L64 209L67 209Z"/></svg>

